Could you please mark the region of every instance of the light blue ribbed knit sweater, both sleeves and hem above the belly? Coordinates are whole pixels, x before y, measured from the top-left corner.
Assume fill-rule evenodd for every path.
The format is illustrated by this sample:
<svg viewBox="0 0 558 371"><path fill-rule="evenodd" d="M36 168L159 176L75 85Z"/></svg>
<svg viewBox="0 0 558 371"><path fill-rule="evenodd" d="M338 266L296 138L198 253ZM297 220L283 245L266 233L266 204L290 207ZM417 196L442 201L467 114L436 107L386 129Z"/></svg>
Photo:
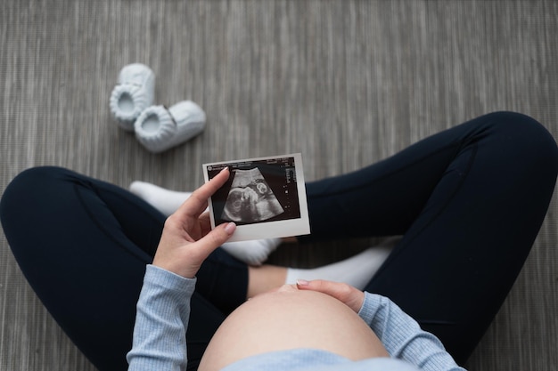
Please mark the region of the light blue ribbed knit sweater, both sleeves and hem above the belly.
<svg viewBox="0 0 558 371"><path fill-rule="evenodd" d="M185 334L195 278L177 276L148 265L137 302L134 345L128 370L185 370ZM365 293L359 316L380 338L391 358L352 361L329 351L275 351L242 359L223 371L416 371L464 370L436 336L421 330L414 319L388 298Z"/></svg>

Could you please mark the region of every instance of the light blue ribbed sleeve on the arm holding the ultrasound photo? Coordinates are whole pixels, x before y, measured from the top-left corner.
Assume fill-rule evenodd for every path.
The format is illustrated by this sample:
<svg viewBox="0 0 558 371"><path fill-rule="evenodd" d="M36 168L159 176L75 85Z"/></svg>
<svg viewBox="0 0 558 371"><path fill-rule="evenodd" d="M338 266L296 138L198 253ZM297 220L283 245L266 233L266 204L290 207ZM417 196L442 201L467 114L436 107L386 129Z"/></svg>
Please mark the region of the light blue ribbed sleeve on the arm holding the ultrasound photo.
<svg viewBox="0 0 558 371"><path fill-rule="evenodd" d="M186 328L195 278L148 265L137 302L129 371L185 370Z"/></svg>

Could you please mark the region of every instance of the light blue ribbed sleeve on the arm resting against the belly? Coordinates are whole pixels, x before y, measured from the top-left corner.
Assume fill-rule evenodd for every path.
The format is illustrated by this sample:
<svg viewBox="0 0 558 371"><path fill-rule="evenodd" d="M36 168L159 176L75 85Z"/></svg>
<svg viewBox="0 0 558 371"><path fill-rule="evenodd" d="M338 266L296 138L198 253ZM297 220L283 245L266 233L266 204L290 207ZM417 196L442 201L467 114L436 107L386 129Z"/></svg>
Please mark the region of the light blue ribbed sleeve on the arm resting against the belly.
<svg viewBox="0 0 558 371"><path fill-rule="evenodd" d="M358 315L380 338L391 357L403 359L423 370L464 371L436 336L423 331L390 299L365 293L365 302Z"/></svg>

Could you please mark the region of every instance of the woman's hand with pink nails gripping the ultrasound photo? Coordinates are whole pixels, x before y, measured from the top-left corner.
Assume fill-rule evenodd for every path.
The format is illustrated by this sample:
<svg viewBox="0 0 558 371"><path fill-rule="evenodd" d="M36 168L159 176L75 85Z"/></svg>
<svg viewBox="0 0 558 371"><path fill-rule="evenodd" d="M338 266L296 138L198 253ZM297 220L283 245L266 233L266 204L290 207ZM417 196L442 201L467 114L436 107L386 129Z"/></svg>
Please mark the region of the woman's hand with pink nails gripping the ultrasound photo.
<svg viewBox="0 0 558 371"><path fill-rule="evenodd" d="M228 176L228 169L218 173L168 217L153 265L193 278L209 254L231 237L236 229L233 222L211 230L209 214L202 214L208 206L208 198L225 184Z"/></svg>

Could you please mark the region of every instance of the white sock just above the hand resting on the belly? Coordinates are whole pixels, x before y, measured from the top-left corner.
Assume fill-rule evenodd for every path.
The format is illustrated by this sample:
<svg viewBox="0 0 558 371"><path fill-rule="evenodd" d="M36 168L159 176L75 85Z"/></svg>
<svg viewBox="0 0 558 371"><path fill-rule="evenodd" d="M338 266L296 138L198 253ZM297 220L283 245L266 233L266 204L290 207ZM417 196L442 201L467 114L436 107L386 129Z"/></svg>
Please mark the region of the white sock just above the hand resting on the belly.
<svg viewBox="0 0 558 371"><path fill-rule="evenodd" d="M285 283L295 284L297 279L326 279L335 282L344 282L350 286L357 287L359 290L373 278L376 271L380 269L382 263L388 258L392 246L373 246L365 251L351 256L341 262L333 262L323 267L314 269L288 268Z"/></svg>

